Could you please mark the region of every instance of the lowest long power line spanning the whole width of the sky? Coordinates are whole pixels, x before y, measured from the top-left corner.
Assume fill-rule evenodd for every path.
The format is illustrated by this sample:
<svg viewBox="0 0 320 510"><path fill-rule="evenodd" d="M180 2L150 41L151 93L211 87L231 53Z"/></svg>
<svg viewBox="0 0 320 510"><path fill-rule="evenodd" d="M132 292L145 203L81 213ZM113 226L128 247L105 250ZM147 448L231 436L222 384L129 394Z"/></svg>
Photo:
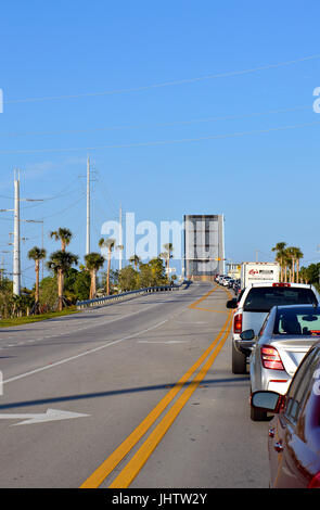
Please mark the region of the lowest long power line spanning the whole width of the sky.
<svg viewBox="0 0 320 510"><path fill-rule="evenodd" d="M97 146L82 146L82 148L68 148L68 149L35 149L35 150L21 150L21 151L0 151L0 155L7 154L33 154L33 153L62 153L62 152L77 152L77 151L98 151L103 149L131 149L131 148L141 148L141 146L155 146L155 145L167 145L176 143L191 143L199 142L204 140L218 140L223 138L236 138L236 137L246 137L252 135L265 135L268 132L284 131L286 129L299 129L304 127L318 126L319 120L313 123L305 124L294 124L291 126L278 126L268 129L256 129L252 131L240 131L231 133L221 133L221 135L209 135L207 137L199 138L182 138L176 140L155 140L150 142L138 142L138 143L119 143L119 144L110 144L110 145L97 145Z"/></svg>

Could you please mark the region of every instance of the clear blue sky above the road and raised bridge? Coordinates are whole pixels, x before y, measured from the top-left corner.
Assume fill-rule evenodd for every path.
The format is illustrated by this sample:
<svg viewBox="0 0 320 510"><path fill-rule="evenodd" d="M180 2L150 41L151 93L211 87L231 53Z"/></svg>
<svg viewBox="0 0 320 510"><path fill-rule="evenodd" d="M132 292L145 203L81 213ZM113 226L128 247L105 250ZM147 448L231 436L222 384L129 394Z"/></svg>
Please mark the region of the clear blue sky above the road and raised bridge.
<svg viewBox="0 0 320 510"><path fill-rule="evenodd" d="M91 251L105 221L182 221L223 214L227 260L272 260L299 246L320 260L319 2L11 1L1 8L0 208ZM0 260L12 271L12 212L0 213ZM22 221L22 283L42 224ZM139 237L138 237L139 239ZM162 251L162 246L158 246ZM114 263L116 267L116 263Z"/></svg>

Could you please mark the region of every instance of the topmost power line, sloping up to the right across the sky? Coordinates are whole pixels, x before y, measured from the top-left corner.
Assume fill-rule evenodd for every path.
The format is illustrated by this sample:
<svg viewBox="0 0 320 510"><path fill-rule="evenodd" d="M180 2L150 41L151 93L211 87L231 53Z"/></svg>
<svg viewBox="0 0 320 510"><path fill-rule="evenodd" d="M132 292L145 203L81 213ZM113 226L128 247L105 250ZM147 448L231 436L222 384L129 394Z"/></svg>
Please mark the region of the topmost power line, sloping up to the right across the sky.
<svg viewBox="0 0 320 510"><path fill-rule="evenodd" d="M204 81L207 79L217 79L217 78L227 78L231 76L240 76L244 74L249 74L249 73L256 73L259 71L267 71L267 69L274 69L278 67L282 66L287 66L292 64L297 64L299 62L306 62L315 59L319 59L320 54L315 54L315 55L308 55L308 56L303 56L300 59L295 59L286 62L278 62L276 64L267 64L267 65L260 65L257 67L252 67L248 69L242 69L242 71L231 71L231 72L226 72L226 73L217 73L217 74L210 74L206 76L200 76L196 78L187 78L187 79L179 79L179 80L172 80L172 81L164 81L161 84L153 84L153 85L146 85L142 87L133 87L133 88L128 88L128 89L117 89L117 90L106 90L102 92L86 92L86 93L78 93L78 94L68 94L68 95L52 95L52 97L44 97L44 98L26 98L26 99L12 99L12 100L7 100L4 103L26 103L26 102L36 102L36 101L53 101L53 100L61 100L61 99L78 99L78 98L89 98L89 97L98 97L98 95L111 95L111 94L120 94L120 93L128 93L128 92L139 92L143 90L150 90L150 89L156 89L156 88L162 88L162 87L171 87L171 86L177 86L177 85L185 85L185 84L192 84L195 81Z"/></svg>

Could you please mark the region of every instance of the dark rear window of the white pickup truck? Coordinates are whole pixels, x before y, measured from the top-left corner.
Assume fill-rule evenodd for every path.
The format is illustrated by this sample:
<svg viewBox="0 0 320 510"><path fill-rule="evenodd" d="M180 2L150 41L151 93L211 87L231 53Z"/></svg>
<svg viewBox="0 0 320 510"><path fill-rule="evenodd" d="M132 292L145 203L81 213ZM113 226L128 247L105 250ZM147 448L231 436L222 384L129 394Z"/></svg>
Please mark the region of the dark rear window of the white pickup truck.
<svg viewBox="0 0 320 510"><path fill-rule="evenodd" d="M272 306L318 304L311 289L287 286L256 286L249 290L244 311L270 311Z"/></svg>

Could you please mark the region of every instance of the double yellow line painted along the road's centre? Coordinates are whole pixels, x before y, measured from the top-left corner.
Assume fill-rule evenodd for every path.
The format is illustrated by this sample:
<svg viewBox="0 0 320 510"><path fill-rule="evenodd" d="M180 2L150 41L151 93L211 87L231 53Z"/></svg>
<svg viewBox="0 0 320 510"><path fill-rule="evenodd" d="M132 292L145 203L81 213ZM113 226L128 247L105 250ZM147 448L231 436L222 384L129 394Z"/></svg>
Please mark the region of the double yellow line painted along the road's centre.
<svg viewBox="0 0 320 510"><path fill-rule="evenodd" d="M207 297L212 292L207 293L203 298ZM201 298L201 301L203 301ZM195 302L197 303L197 302ZM232 324L232 311L230 310L227 320L221 328L218 336L210 344L210 346L203 353L203 355L195 361L195 364L182 375L182 378L175 384L175 386L166 394L166 396L154 407L154 409L146 416L146 418L131 432L131 434L116 448L116 450L82 483L80 488L98 488L103 481L113 472L118 463L131 451L131 449L139 443L143 435L152 428L155 421L161 417L164 410L171 404L178 393L185 386L180 397L169 408L166 415L161 419L155 429L151 432L148 438L142 443L140 448L120 471L117 477L110 485L110 488L127 488L140 470L143 468L149 457L152 455L156 446L159 444L168 429L171 426L177 416L190 399L199 384L206 377L209 368L218 356L219 352L225 345L226 340L230 333ZM208 357L209 356L209 357ZM208 358L208 359L207 359ZM204 365L203 365L204 364ZM197 371L197 369L203 367ZM197 372L196 372L197 371ZM196 374L195 374L196 372ZM195 377L189 384L188 381L192 375Z"/></svg>

